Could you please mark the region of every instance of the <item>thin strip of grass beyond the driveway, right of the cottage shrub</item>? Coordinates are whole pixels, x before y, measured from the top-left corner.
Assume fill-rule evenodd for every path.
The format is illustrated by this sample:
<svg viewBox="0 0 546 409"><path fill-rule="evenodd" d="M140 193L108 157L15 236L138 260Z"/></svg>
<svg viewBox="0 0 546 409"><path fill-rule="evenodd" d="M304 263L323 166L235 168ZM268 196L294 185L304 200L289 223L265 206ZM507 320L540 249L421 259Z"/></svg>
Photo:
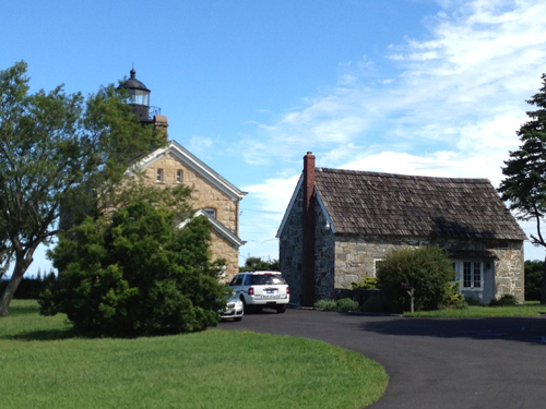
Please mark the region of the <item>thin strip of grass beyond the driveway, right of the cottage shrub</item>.
<svg viewBox="0 0 546 409"><path fill-rule="evenodd" d="M479 316L539 316L546 314L546 305L538 301L527 301L523 305L506 306L468 306L464 310L438 310L404 313L410 317L479 317Z"/></svg>

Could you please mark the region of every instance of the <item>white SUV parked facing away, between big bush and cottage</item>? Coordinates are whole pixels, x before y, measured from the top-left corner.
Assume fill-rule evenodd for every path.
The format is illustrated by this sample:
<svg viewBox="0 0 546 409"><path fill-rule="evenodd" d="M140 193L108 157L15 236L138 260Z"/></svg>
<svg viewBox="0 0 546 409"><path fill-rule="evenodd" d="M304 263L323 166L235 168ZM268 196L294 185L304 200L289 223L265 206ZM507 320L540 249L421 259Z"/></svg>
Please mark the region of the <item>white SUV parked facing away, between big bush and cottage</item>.
<svg viewBox="0 0 546 409"><path fill-rule="evenodd" d="M229 286L242 301L245 310L271 308L282 314L290 300L288 285L280 272L239 273Z"/></svg>

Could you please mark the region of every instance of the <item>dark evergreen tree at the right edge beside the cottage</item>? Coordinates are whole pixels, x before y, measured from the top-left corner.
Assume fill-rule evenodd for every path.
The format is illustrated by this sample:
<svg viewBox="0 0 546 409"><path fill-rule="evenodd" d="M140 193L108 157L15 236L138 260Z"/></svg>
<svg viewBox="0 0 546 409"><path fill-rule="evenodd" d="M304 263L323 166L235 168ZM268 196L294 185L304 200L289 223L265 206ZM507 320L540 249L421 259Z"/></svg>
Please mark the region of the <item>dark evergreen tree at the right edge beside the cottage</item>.
<svg viewBox="0 0 546 409"><path fill-rule="evenodd" d="M536 234L531 234L531 242L546 248L541 231L546 212L546 74L542 81L542 88L527 100L537 109L526 112L530 120L517 132L521 145L510 152L510 158L505 161L506 178L498 191L520 220L535 221ZM546 279L542 280L541 303L546 303Z"/></svg>

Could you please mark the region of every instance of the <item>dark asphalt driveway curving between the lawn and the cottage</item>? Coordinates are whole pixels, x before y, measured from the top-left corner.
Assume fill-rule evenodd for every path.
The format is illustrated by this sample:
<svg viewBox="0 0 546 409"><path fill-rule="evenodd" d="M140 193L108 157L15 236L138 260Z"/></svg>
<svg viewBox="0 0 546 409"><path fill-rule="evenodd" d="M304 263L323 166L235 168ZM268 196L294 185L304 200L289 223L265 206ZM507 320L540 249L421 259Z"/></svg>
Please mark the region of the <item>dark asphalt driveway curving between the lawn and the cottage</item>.
<svg viewBox="0 0 546 409"><path fill-rule="evenodd" d="M380 362L381 408L546 408L546 317L402 318L287 310L222 329L321 339ZM328 409L328 408L324 408Z"/></svg>

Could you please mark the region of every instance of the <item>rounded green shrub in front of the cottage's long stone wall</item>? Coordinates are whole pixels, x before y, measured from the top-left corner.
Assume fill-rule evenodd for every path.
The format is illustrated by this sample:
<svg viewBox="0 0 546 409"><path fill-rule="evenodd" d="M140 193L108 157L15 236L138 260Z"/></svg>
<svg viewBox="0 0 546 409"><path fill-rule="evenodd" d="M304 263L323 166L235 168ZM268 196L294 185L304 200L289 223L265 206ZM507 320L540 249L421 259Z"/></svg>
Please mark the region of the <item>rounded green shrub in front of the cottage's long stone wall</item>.
<svg viewBox="0 0 546 409"><path fill-rule="evenodd" d="M378 288L400 311L410 309L410 296L402 284L412 286L416 310L438 310L449 301L449 284L455 272L438 246L403 248L378 264Z"/></svg>

